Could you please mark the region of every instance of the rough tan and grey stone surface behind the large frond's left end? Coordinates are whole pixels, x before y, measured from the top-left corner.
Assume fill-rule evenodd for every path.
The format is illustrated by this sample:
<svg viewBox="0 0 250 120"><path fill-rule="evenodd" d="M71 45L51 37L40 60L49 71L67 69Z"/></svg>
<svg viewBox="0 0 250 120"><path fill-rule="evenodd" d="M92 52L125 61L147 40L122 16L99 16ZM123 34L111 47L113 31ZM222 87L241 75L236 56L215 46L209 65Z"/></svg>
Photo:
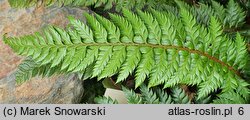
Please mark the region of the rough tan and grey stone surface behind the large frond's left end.
<svg viewBox="0 0 250 120"><path fill-rule="evenodd" d="M74 76L47 79L33 78L15 85L14 70L22 57L3 43L2 36L20 36L39 31L48 24L65 27L67 16L83 19L79 8L39 7L11 8L7 0L0 0L0 103L77 103L83 92L82 81Z"/></svg>

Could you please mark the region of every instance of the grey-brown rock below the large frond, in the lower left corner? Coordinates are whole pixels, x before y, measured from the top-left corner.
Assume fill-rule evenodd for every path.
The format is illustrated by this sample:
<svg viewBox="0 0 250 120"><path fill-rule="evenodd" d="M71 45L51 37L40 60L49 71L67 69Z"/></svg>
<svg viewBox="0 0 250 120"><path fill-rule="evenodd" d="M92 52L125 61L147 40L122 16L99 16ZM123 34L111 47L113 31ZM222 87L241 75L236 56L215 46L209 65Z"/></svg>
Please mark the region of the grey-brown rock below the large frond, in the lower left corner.
<svg viewBox="0 0 250 120"><path fill-rule="evenodd" d="M9 83L0 86L0 103L5 104L74 104L81 102L84 93L83 81L75 74L43 79L37 77L15 86L15 73L12 73L0 81Z"/></svg>

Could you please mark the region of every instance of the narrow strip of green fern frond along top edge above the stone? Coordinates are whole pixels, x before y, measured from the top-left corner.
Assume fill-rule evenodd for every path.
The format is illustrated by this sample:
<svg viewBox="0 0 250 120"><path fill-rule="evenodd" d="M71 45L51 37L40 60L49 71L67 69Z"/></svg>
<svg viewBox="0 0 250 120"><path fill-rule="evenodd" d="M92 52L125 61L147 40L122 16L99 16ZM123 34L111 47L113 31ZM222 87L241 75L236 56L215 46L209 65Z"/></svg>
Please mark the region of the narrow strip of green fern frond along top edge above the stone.
<svg viewBox="0 0 250 120"><path fill-rule="evenodd" d="M128 9L142 9L145 7L164 9L173 0L9 0L12 7L30 7L34 5L59 5L59 6L104 6L104 9L111 9L114 5L120 11L123 7Z"/></svg>

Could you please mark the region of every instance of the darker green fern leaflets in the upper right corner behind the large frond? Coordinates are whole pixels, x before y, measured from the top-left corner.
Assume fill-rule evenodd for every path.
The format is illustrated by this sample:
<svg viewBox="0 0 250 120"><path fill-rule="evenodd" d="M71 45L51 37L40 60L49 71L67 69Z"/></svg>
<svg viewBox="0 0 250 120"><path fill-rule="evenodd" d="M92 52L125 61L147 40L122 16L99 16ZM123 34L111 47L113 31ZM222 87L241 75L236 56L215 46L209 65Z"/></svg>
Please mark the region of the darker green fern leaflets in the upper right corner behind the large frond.
<svg viewBox="0 0 250 120"><path fill-rule="evenodd" d="M216 16L225 29L241 27L245 22L246 12L234 0L229 0L226 7L216 1L211 5L199 3L197 7L176 1L181 8L190 10L199 23L208 25L210 16Z"/></svg>

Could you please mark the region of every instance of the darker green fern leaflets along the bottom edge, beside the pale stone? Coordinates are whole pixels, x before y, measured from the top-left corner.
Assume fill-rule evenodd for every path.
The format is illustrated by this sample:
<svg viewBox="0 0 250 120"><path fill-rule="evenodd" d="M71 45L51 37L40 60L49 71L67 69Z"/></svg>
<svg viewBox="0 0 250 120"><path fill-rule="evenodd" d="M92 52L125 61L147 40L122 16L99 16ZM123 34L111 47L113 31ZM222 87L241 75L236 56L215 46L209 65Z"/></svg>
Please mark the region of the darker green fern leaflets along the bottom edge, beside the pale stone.
<svg viewBox="0 0 250 120"><path fill-rule="evenodd" d="M171 88L171 92L160 88L149 89L145 85L140 86L140 94L135 93L133 90L129 90L126 87L122 87L124 95L127 98L128 104L189 104L188 95L183 89L179 87ZM110 97L96 97L95 103L98 104L117 104L117 100L113 100Z"/></svg>

